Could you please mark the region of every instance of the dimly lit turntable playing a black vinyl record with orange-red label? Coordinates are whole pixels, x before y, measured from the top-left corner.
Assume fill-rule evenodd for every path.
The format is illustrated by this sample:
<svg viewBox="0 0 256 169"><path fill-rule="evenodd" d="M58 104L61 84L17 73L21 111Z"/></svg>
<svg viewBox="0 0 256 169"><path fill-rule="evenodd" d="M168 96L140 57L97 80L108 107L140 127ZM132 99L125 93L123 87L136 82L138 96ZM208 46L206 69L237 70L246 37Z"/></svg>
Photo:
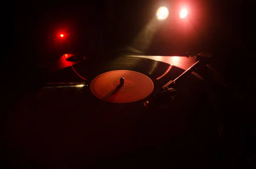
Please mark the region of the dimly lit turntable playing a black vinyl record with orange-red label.
<svg viewBox="0 0 256 169"><path fill-rule="evenodd" d="M217 124L193 64L184 72L138 56L81 58L62 57L32 103L20 107L23 161L76 168L205 160ZM185 80L174 84L181 74Z"/></svg>

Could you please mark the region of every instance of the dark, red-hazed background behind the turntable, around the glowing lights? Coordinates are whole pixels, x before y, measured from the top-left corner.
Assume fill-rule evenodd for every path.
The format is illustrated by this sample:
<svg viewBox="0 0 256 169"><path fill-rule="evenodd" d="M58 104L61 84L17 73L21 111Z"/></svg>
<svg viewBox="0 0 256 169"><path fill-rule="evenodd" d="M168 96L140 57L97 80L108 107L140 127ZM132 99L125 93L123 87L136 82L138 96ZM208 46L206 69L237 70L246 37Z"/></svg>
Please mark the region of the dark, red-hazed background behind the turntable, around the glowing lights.
<svg viewBox="0 0 256 169"><path fill-rule="evenodd" d="M184 1L185 2L185 1ZM250 106L253 89L253 10L243 0L191 0L193 18L184 25L172 15L180 1L171 0L38 0L1 2L1 74L4 103L8 108L22 86L40 79L42 65L64 53L84 54L102 59L123 46L154 17L159 6L168 6L170 15L155 34L145 55L184 56L209 52L212 66L230 82L239 109L232 108L232 137L243 145L242 158L253 157L254 124ZM173 11L172 11L173 9ZM176 16L178 18L178 16ZM187 32L183 32L187 28ZM59 30L70 33L66 43L56 40ZM248 94L249 93L249 94ZM236 120L239 124L236 124ZM249 120L248 120L249 119ZM4 120L4 118L2 118ZM232 140L230 139L230 140ZM235 140L236 139L236 140ZM238 140L237 140L238 139ZM229 143L226 143L227 145ZM234 147L236 149L237 147ZM240 147L241 148L241 147ZM232 148L230 148L232 149ZM238 149L238 148L237 148ZM230 153L231 154L231 153ZM240 154L238 155L240 156ZM254 156L255 157L255 156ZM251 163L252 158L248 158Z"/></svg>

